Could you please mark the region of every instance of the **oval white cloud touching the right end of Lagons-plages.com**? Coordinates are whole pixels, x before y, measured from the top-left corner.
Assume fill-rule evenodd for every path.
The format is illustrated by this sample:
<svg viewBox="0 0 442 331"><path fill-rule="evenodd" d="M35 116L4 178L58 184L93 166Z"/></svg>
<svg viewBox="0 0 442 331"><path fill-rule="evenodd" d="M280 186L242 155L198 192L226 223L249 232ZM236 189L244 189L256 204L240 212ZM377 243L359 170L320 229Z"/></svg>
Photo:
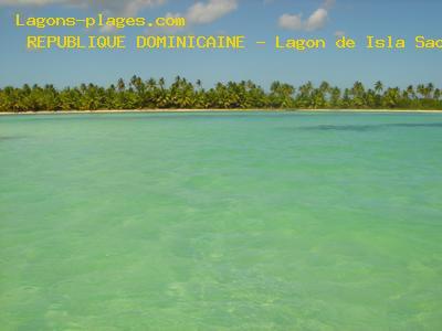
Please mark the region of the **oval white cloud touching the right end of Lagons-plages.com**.
<svg viewBox="0 0 442 331"><path fill-rule="evenodd" d="M238 0L209 0L207 3L197 2L191 6L186 14L191 24L207 24L236 10Z"/></svg>

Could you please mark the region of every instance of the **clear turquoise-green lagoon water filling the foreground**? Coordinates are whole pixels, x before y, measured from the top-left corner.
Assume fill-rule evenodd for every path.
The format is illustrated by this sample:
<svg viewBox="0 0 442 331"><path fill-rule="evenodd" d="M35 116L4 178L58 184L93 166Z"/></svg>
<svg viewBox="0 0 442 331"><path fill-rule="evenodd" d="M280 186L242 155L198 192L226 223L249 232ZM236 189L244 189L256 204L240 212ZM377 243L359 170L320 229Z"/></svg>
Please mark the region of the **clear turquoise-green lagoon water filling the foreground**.
<svg viewBox="0 0 442 331"><path fill-rule="evenodd" d="M0 118L1 330L441 330L442 115Z"/></svg>

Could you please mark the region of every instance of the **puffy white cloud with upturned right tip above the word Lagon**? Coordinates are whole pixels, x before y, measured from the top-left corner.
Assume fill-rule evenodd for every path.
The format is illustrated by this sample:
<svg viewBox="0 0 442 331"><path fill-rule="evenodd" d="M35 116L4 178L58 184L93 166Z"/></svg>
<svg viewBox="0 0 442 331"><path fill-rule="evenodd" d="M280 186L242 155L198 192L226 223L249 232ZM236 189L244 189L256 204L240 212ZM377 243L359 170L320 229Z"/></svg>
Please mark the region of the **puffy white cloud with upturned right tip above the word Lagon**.
<svg viewBox="0 0 442 331"><path fill-rule="evenodd" d="M315 10L307 20L303 20L302 14L285 13L280 17L278 25L286 30L315 31L325 26L328 20L328 11L335 4L335 0L325 0L323 6Z"/></svg>

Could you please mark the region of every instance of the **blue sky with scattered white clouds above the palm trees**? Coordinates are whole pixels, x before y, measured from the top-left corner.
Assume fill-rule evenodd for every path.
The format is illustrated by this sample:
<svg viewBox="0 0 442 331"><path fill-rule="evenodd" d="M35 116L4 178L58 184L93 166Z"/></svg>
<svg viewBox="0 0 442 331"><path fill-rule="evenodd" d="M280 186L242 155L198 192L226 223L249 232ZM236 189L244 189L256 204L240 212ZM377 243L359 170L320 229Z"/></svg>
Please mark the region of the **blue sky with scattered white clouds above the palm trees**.
<svg viewBox="0 0 442 331"><path fill-rule="evenodd" d="M114 17L186 17L181 34L243 34L245 50L46 50L29 51L25 36L32 28L17 28L14 14L23 17L77 17L104 12ZM442 50L415 50L415 35L442 39L440 0L0 0L0 87L54 84L59 87L94 83L109 85L119 77L138 75L217 82L252 79L263 87L273 81L299 85L327 81L346 87L360 81L389 86L432 82L442 87ZM45 34L103 34L48 29ZM159 33L146 28L120 32L128 38ZM274 50L274 38L324 38L326 50L299 53ZM358 42L352 51L336 50L336 35ZM404 38L407 50L367 50L366 35ZM266 41L267 45L256 45Z"/></svg>

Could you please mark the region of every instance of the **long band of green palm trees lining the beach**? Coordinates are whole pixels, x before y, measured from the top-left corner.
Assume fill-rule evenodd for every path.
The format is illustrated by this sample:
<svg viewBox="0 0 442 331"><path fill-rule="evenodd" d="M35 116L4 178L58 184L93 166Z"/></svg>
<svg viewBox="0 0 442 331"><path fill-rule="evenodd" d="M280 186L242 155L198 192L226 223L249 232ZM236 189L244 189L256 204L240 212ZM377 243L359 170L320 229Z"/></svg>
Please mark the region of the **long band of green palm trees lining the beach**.
<svg viewBox="0 0 442 331"><path fill-rule="evenodd" d="M0 89L0 111L97 110L97 109L442 109L441 89L433 84L385 87L377 82L366 88L356 82L340 89L327 82L315 87L312 83L297 88L274 82L270 92L253 82L227 84L204 89L177 77L170 86L164 78L144 82L131 77L119 79L107 88L82 84L80 87L56 89L53 85Z"/></svg>

